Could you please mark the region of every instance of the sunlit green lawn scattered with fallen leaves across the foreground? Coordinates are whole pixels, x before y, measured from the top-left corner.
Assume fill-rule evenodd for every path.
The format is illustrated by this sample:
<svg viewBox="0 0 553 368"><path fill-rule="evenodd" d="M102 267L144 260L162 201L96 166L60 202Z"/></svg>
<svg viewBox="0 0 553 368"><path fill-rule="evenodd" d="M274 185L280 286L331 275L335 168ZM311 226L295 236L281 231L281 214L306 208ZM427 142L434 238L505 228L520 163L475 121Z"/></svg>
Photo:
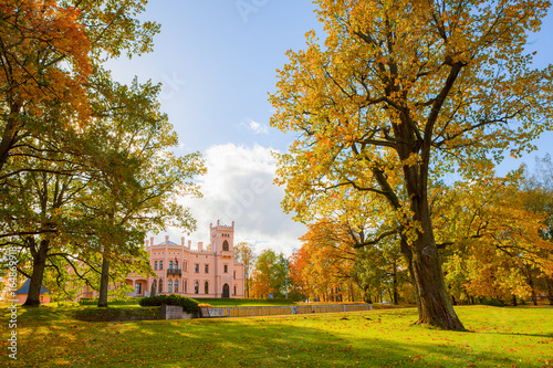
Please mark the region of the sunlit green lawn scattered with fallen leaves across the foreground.
<svg viewBox="0 0 553 368"><path fill-rule="evenodd" d="M85 323L20 309L21 367L553 367L553 309L457 307L467 333L414 326L415 309ZM3 313L7 325L7 314Z"/></svg>

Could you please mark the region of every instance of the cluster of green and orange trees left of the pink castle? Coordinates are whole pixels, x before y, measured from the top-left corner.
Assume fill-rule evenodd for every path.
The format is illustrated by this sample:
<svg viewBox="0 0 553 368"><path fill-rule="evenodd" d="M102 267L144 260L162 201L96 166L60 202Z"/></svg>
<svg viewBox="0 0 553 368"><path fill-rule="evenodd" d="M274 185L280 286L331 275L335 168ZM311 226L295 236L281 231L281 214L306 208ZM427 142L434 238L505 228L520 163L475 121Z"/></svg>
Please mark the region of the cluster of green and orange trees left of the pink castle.
<svg viewBox="0 0 553 368"><path fill-rule="evenodd" d="M19 272L71 297L148 272L147 231L195 225L177 194L199 194L199 154L178 157L159 85L114 82L105 62L152 51L142 0L0 1L0 246ZM140 261L142 262L136 262ZM111 272L108 272L111 266Z"/></svg>

